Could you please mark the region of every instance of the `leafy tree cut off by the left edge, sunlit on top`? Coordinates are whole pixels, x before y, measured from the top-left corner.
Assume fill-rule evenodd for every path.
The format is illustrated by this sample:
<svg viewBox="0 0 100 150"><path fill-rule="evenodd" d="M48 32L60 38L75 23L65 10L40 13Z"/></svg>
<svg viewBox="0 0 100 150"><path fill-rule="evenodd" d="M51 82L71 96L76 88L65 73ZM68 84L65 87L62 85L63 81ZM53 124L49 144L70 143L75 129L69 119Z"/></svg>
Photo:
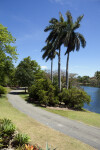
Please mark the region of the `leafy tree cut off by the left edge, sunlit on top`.
<svg viewBox="0 0 100 150"><path fill-rule="evenodd" d="M14 65L12 60L17 59L16 47L11 46L16 39L11 33L0 24L0 84L7 86L10 83L10 77Z"/></svg>

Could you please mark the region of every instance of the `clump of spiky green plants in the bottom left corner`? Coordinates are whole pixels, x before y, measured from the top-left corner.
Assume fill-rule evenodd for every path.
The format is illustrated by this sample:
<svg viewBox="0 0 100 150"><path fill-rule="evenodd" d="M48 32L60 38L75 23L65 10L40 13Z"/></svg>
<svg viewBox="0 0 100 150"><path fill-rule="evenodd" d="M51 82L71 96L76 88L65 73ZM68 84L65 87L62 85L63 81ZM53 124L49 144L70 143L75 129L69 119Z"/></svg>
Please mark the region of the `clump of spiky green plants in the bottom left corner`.
<svg viewBox="0 0 100 150"><path fill-rule="evenodd" d="M18 147L29 143L26 134L16 132L16 127L9 119L0 119L0 148Z"/></svg>

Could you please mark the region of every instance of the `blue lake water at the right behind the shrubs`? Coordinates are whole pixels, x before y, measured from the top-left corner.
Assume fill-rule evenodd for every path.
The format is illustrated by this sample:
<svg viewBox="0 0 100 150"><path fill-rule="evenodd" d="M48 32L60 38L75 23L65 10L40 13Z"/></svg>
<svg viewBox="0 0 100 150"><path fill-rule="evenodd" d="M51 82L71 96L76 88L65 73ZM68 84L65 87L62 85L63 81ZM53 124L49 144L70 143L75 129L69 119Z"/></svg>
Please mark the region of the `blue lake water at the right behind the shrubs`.
<svg viewBox="0 0 100 150"><path fill-rule="evenodd" d="M90 106L84 105L84 108L100 114L100 88L82 86L85 92L91 96Z"/></svg>

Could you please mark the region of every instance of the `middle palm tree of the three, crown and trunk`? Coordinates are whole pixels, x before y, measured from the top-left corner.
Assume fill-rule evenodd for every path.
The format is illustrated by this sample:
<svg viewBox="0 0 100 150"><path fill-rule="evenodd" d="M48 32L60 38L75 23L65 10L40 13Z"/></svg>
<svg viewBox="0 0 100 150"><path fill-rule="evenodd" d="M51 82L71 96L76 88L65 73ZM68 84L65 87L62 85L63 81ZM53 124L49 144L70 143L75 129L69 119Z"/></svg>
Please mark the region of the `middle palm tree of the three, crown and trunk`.
<svg viewBox="0 0 100 150"><path fill-rule="evenodd" d="M51 31L49 36L47 37L46 39L46 42L51 42L52 44L52 49L51 51L56 51L58 50L58 86L59 86L59 91L61 91L61 56L60 56L60 53L61 53L61 45L62 45L62 39L61 39L61 23L64 22L64 19L63 19L63 16L61 13L60 14L60 17L59 17L59 20L57 20L56 18L52 18L49 23L50 25L47 26L45 28L45 32L47 31Z"/></svg>

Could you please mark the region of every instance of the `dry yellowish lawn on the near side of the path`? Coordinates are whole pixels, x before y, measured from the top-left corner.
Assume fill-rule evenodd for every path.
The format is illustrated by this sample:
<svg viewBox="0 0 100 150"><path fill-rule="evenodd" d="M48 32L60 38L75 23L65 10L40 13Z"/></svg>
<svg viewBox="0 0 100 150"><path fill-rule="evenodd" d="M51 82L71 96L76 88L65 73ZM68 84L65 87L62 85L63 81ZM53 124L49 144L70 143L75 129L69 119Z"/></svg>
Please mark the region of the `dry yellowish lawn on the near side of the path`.
<svg viewBox="0 0 100 150"><path fill-rule="evenodd" d="M0 118L9 118L16 124L17 129L31 137L32 144L39 144L45 149L46 142L57 150L93 150L74 138L57 132L42 125L27 115L19 112L8 102L6 96L0 97Z"/></svg>

